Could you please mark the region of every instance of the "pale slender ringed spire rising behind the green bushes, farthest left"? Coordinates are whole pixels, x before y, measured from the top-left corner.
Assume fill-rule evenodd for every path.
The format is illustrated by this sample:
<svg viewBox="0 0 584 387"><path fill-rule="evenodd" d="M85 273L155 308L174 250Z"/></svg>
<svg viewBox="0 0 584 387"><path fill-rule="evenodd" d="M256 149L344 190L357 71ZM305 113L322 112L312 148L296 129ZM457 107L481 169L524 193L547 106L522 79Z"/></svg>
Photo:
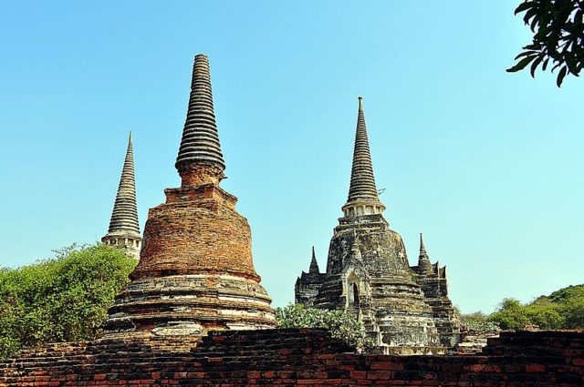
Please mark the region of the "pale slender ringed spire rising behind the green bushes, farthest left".
<svg viewBox="0 0 584 387"><path fill-rule="evenodd" d="M101 239L108 245L120 246L138 260L140 258L141 236L136 206L136 182L134 181L134 152L131 145L131 132L124 166L121 169L120 186L113 205L110 229Z"/></svg>

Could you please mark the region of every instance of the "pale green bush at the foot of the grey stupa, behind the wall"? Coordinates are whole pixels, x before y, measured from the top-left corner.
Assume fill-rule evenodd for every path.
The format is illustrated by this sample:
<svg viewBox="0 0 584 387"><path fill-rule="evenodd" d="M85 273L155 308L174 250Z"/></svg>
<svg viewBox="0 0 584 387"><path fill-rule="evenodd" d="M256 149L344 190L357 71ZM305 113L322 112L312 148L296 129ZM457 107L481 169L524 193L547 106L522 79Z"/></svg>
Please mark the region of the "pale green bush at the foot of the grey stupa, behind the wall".
<svg viewBox="0 0 584 387"><path fill-rule="evenodd" d="M332 337L355 346L361 352L373 347L363 324L346 311L326 311L289 304L286 308L276 308L276 319L281 328L325 328Z"/></svg>

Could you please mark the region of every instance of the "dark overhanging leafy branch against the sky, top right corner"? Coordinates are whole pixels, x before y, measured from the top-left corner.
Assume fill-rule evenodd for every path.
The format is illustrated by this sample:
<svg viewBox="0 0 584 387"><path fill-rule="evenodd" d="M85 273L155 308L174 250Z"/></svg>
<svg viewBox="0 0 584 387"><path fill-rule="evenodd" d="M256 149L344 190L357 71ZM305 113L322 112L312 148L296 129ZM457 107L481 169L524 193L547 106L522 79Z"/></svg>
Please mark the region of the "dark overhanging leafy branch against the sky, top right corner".
<svg viewBox="0 0 584 387"><path fill-rule="evenodd" d="M507 71L523 70L531 64L531 76L535 76L538 66L545 71L550 64L552 72L559 69L558 87L568 74L579 76L584 66L584 2L525 0L516 7L515 14L520 13L534 33L533 41L523 47L516 56L518 62Z"/></svg>

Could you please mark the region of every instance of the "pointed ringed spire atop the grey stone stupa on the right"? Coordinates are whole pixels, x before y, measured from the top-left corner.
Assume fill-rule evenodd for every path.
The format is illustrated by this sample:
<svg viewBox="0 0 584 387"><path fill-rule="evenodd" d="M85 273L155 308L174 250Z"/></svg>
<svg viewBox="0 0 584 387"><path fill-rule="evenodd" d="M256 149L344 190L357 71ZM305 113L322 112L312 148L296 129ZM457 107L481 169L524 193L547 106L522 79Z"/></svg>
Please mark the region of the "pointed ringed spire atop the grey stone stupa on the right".
<svg viewBox="0 0 584 387"><path fill-rule="evenodd" d="M357 115L357 130L355 132L355 148L353 149L353 165L350 171L349 198L343 206L345 216L370 215L382 213L385 206L375 186L373 164L363 113L363 97L359 97L359 113Z"/></svg>

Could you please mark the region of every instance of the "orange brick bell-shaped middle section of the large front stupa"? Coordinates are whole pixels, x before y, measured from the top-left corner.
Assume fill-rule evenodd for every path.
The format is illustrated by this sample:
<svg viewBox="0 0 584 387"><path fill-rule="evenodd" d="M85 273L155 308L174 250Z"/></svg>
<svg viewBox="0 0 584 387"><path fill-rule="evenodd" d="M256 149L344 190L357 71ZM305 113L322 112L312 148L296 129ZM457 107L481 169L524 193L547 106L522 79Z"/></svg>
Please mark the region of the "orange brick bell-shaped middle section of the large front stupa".
<svg viewBox="0 0 584 387"><path fill-rule="evenodd" d="M132 280L201 272L236 273L259 280L251 230L236 198L205 185L165 189L166 203L148 213L140 264Z"/></svg>

